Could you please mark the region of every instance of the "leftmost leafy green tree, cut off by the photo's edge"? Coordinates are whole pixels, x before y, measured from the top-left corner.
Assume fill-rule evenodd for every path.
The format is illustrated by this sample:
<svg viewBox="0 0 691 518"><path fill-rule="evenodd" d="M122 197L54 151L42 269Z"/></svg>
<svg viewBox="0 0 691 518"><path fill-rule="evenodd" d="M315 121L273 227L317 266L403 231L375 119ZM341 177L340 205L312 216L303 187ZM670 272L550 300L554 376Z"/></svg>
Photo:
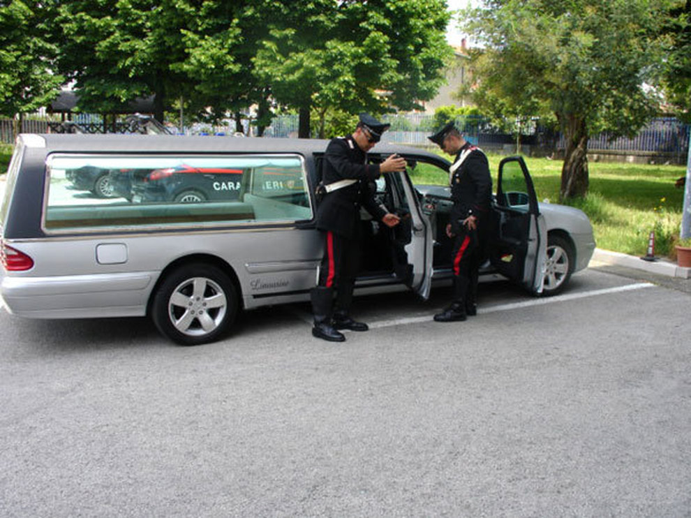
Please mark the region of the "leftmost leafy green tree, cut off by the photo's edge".
<svg viewBox="0 0 691 518"><path fill-rule="evenodd" d="M64 79L52 73L57 48L45 37L49 19L40 1L0 2L0 114L21 116L57 96Z"/></svg>

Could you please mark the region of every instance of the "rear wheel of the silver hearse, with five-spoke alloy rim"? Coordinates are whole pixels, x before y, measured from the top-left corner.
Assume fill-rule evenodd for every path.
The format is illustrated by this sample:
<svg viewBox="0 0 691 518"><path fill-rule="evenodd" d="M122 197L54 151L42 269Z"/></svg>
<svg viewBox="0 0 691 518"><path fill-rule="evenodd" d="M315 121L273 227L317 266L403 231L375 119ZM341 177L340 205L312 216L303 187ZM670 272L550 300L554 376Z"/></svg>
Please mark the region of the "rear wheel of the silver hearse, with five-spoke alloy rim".
<svg viewBox="0 0 691 518"><path fill-rule="evenodd" d="M225 336L238 309L230 277L214 265L195 263L165 276L151 302L151 318L163 336L198 346Z"/></svg>

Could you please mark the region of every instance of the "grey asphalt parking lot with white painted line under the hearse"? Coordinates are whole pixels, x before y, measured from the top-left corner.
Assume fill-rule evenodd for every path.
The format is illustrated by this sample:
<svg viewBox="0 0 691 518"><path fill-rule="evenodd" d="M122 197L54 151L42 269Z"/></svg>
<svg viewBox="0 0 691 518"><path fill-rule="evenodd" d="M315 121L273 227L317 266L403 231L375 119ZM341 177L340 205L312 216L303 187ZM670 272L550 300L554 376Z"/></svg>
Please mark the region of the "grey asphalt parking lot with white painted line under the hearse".
<svg viewBox="0 0 691 518"><path fill-rule="evenodd" d="M174 346L0 309L0 517L690 517L691 280L596 251L557 297L309 306Z"/></svg>

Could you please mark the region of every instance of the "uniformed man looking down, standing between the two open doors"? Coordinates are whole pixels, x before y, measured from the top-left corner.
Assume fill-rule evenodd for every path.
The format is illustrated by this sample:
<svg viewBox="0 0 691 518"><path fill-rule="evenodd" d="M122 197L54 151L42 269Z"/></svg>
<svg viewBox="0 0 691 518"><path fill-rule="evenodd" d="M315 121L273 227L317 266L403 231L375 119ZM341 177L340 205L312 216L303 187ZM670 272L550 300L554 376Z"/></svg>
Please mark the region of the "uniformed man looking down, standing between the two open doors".
<svg viewBox="0 0 691 518"><path fill-rule="evenodd" d="M447 236L454 240L454 293L451 304L436 314L434 320L466 320L466 315L477 313L477 276L486 256L487 220L492 195L489 163L482 150L466 141L452 122L428 138L445 153L455 156L449 168L454 206L446 227Z"/></svg>

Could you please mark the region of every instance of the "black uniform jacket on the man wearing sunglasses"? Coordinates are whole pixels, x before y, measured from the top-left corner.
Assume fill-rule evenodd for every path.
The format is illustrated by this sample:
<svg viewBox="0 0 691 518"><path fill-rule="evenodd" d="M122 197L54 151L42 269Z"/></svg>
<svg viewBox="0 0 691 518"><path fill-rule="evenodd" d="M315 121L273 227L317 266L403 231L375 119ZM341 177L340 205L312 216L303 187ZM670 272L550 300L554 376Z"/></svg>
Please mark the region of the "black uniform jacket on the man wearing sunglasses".
<svg viewBox="0 0 691 518"><path fill-rule="evenodd" d="M377 205L369 185L379 177L379 165L368 165L366 161L366 153L357 146L352 135L329 142L322 166L322 182L325 185L344 179L357 182L325 195L317 210L319 230L331 230L353 239L357 237L361 206L375 219L385 216L386 212Z"/></svg>

